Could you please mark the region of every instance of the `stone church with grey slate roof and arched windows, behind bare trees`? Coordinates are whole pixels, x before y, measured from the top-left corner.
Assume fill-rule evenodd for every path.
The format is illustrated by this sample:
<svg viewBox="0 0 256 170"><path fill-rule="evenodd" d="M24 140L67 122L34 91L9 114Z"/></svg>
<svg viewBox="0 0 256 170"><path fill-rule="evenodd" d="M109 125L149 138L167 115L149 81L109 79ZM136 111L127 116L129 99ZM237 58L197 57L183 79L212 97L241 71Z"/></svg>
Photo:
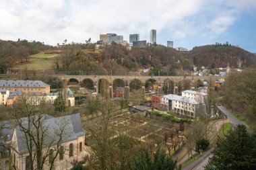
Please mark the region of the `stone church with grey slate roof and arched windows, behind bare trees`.
<svg viewBox="0 0 256 170"><path fill-rule="evenodd" d="M72 114L69 116L63 116L59 118L54 118L49 115L44 115L43 123L47 127L47 136L50 138L49 141L52 141L57 136L55 135L54 130L59 129L59 124L65 122L66 126L63 128L64 133L61 140L61 146L56 146L56 144L48 143L48 140L45 140L44 143L45 149L43 149L42 154L46 154L48 150L49 156L46 157L46 163L44 164L44 169L49 169L49 161L56 154L57 148L59 148L59 153L54 161L54 169L70 169L73 167L74 163L82 161L88 153L85 151L85 132L82 127L82 122L79 114ZM23 118L22 120L26 121L28 118ZM57 133L57 132L56 132ZM68 135L65 135L65 134ZM10 154L12 159L11 165L18 170L29 169L30 162L28 161L28 148L26 146L26 140L24 140L24 132L16 126L13 130L11 136L11 144L13 147L10 148ZM44 136L45 138L45 136ZM34 165L34 167L36 164Z"/></svg>

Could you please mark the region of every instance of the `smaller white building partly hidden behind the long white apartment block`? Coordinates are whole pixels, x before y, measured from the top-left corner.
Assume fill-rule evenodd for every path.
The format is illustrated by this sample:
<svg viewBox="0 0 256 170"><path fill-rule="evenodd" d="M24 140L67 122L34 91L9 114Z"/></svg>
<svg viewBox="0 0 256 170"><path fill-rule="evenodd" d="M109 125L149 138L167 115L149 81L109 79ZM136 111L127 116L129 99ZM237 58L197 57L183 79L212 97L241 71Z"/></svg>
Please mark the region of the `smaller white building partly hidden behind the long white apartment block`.
<svg viewBox="0 0 256 170"><path fill-rule="evenodd" d="M193 90L182 91L181 95L184 97L189 97L190 99L196 99L200 103L206 103L208 96L207 93Z"/></svg>

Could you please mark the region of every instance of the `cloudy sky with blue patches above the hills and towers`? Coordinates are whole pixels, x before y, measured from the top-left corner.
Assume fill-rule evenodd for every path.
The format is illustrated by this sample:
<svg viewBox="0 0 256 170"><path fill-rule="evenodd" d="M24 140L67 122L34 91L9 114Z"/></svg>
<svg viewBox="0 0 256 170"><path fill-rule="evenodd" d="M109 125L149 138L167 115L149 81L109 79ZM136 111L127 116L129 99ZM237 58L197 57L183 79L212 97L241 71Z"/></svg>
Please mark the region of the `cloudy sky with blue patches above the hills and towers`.
<svg viewBox="0 0 256 170"><path fill-rule="evenodd" d="M56 46L115 33L174 48L215 44L256 52L256 0L1 0L0 39Z"/></svg>

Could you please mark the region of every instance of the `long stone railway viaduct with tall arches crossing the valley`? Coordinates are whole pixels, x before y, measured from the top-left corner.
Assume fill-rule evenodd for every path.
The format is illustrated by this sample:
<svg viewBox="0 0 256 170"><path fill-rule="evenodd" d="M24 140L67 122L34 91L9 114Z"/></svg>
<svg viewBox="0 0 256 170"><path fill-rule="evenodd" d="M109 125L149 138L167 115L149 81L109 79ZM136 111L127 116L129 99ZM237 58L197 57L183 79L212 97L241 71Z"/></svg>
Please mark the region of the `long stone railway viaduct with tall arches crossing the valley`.
<svg viewBox="0 0 256 170"><path fill-rule="evenodd" d="M158 84L158 88L162 87L162 84L166 80L171 80L174 83L174 88L177 88L177 85L179 83L182 83L184 81L189 81L191 89L194 89L196 86L196 83L198 81L210 81L212 79L212 82L221 79L223 77L199 77L199 76L177 76L177 77L171 77L171 76L121 76L121 75L61 75L57 76L63 81L67 81L68 85L79 85L85 82L89 82L94 86L94 90L98 93L99 92L99 83L100 81L105 81L108 84L108 87L111 91L111 95L113 97L113 89L115 88L115 82L121 81L123 82L123 86L130 90L131 82L137 81L139 82L139 85L142 89L145 89L145 84L147 81L153 80Z"/></svg>

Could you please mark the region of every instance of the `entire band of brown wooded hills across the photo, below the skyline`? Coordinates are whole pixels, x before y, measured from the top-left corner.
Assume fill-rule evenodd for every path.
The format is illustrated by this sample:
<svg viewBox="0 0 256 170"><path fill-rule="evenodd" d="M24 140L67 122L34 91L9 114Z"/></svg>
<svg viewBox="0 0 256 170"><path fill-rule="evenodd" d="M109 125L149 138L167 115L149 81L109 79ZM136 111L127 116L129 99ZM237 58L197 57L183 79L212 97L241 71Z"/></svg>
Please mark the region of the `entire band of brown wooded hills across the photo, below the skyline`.
<svg viewBox="0 0 256 170"><path fill-rule="evenodd" d="M28 56L40 51L49 52L58 49L61 58L56 58L52 65L55 71L69 75L190 75L193 65L207 69L226 67L246 68L256 64L253 53L230 44L199 46L189 52L179 52L165 46L147 46L145 48L127 48L112 44L94 50L95 44L90 39L84 44L65 44L47 46L41 42L27 40L0 40L0 73L14 65L27 61Z"/></svg>

